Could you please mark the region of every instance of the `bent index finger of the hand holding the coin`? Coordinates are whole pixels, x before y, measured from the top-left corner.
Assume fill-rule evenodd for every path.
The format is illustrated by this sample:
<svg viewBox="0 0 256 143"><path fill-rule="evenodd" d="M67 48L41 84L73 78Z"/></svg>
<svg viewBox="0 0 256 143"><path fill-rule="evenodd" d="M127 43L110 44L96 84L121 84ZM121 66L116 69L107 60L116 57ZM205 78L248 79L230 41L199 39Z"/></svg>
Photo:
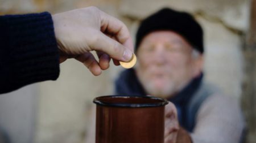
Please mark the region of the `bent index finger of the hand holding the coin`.
<svg viewBox="0 0 256 143"><path fill-rule="evenodd" d="M100 13L101 31L112 34L115 38L117 38L118 42L127 47L131 52L134 52L133 41L126 25L113 16L105 14L102 11Z"/></svg>

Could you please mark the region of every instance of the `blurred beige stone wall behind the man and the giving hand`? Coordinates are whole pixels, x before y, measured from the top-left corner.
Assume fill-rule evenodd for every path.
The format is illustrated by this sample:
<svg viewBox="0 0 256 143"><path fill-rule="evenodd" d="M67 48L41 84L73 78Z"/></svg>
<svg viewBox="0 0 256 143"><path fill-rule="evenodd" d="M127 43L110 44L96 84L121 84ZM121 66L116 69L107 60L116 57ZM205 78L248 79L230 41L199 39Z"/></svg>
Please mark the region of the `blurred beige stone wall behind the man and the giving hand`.
<svg viewBox="0 0 256 143"><path fill-rule="evenodd" d="M247 44L252 1L0 0L0 14L55 14L97 6L121 19L134 36L139 21L159 8L190 12L204 29L206 79L220 86L225 94L240 99L248 124L246 142L256 142L256 54L255 46ZM112 94L113 81L123 70L112 64L101 76L94 77L75 60L68 60L60 68L57 81L26 86L0 96L0 127L6 129L14 143L84 142L93 98Z"/></svg>

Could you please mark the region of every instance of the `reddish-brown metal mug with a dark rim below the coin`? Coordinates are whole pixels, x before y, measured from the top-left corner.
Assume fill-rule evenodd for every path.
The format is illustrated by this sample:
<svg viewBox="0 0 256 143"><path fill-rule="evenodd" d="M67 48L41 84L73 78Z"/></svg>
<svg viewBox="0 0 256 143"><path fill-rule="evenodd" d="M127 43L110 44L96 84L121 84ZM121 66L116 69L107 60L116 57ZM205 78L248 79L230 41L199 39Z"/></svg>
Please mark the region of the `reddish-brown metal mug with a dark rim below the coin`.
<svg viewBox="0 0 256 143"><path fill-rule="evenodd" d="M164 106L151 96L102 96L96 110L96 143L163 143Z"/></svg>

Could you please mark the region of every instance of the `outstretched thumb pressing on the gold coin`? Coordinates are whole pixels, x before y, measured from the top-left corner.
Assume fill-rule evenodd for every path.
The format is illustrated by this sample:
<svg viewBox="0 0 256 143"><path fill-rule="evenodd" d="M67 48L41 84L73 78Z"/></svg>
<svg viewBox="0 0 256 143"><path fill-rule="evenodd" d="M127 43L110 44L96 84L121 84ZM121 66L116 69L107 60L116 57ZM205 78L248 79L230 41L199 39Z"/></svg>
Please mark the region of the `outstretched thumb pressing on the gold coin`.
<svg viewBox="0 0 256 143"><path fill-rule="evenodd" d="M131 59L133 53L128 47L106 36L104 33L99 32L97 36L97 40L89 45L91 50L103 51L111 58L123 62L128 62Z"/></svg>

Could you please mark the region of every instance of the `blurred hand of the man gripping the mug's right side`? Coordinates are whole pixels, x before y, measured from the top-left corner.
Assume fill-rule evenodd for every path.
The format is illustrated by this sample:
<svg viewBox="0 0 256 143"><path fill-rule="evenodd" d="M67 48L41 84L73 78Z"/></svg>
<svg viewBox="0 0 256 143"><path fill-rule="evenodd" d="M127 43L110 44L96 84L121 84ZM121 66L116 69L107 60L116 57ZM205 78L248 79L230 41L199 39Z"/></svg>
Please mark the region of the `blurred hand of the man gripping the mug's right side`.
<svg viewBox="0 0 256 143"><path fill-rule="evenodd" d="M175 143L179 131L179 121L177 119L177 110L173 103L169 102L166 105L165 115L164 143Z"/></svg>

